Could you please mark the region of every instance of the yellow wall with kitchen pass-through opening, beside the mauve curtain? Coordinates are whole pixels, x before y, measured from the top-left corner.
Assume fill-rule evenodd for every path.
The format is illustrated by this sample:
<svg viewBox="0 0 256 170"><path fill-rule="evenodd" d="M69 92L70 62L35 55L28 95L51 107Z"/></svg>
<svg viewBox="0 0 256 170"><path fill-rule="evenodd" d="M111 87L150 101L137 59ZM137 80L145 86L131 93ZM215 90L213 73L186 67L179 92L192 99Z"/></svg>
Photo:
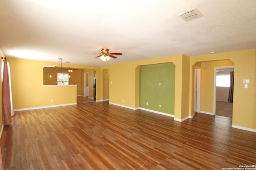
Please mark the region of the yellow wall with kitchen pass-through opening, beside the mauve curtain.
<svg viewBox="0 0 256 170"><path fill-rule="evenodd" d="M43 86L43 68L58 63L8 58L10 64L14 109L43 107L76 103L76 86ZM90 68L100 72L100 67L62 64L63 67ZM77 71L77 70L75 70ZM98 75L101 76L100 74ZM78 78L80 81L80 78ZM100 86L97 87L100 90ZM100 95L99 95L100 96ZM100 98L100 97L99 97ZM51 102L53 99L53 102Z"/></svg>

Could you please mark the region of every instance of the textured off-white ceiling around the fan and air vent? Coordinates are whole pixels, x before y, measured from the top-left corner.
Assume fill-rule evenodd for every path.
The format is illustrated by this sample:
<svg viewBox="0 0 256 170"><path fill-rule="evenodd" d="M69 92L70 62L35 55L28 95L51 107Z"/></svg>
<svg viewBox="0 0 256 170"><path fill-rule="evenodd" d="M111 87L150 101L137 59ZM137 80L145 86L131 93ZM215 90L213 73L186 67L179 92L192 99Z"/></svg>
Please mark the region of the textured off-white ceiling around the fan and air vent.
<svg viewBox="0 0 256 170"><path fill-rule="evenodd" d="M198 8L189 22L179 14ZM1 0L0 46L7 57L103 66L256 48L256 0Z"/></svg>

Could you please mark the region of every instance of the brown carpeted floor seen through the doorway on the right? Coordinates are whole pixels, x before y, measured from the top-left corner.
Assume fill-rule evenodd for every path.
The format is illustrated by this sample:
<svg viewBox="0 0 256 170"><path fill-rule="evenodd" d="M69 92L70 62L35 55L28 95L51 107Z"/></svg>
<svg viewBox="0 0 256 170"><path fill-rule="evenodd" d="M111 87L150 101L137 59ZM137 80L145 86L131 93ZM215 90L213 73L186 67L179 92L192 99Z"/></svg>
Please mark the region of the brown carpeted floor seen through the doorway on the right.
<svg viewBox="0 0 256 170"><path fill-rule="evenodd" d="M232 117L233 103L216 101L216 115Z"/></svg>

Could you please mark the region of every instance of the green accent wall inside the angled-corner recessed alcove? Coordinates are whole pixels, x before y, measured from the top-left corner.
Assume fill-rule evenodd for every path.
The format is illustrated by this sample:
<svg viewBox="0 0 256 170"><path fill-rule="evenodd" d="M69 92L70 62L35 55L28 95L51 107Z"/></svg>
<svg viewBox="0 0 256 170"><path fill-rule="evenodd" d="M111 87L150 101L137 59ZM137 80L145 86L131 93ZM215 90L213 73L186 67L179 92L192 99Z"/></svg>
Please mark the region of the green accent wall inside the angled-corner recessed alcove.
<svg viewBox="0 0 256 170"><path fill-rule="evenodd" d="M174 90L175 65L173 63L141 66L141 108L174 115Z"/></svg>

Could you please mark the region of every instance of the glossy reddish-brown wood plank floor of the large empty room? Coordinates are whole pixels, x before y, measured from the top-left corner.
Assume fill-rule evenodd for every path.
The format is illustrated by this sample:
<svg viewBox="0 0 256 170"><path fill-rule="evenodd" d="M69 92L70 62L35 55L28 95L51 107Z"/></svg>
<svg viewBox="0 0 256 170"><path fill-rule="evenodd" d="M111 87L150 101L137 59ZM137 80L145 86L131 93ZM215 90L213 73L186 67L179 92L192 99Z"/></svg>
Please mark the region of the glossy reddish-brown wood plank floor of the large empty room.
<svg viewBox="0 0 256 170"><path fill-rule="evenodd" d="M231 118L172 117L108 102L17 111L0 145L4 169L221 170L255 165L256 133Z"/></svg>

